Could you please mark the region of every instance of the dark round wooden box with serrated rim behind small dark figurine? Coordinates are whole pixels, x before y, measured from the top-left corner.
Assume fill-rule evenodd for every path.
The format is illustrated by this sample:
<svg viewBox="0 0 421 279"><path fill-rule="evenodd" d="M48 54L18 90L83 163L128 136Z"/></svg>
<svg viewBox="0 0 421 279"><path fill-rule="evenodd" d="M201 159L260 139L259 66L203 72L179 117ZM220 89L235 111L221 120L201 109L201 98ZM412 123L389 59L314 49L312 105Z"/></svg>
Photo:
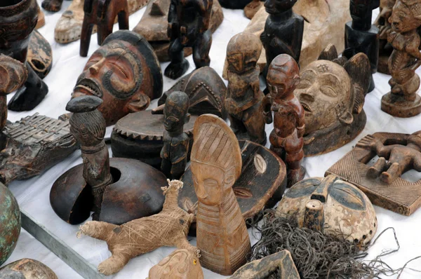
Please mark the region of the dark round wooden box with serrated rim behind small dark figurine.
<svg viewBox="0 0 421 279"><path fill-rule="evenodd" d="M185 123L183 132L189 136L189 149L193 144L193 126L197 116L191 116ZM139 111L128 114L114 126L111 135L113 157L133 158L154 168L161 168L161 150L163 148L164 116L151 114L151 111ZM187 160L190 152L187 153Z"/></svg>

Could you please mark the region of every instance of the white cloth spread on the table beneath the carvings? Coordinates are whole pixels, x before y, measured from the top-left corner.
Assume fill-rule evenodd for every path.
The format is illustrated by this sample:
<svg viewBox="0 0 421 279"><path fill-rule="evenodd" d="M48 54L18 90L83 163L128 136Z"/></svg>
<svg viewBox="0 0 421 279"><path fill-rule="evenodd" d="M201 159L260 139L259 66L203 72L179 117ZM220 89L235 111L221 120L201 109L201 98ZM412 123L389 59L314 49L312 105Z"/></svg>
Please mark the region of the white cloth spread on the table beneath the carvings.
<svg viewBox="0 0 421 279"><path fill-rule="evenodd" d="M37 1L41 4L41 0ZM62 11L59 13L46 12L46 26L39 29L39 32L48 39L53 47L53 69L46 79L44 79L50 89L46 99L36 107L34 111L22 113L9 111L8 119L10 121L18 121L20 118L29 114L32 115L35 112L51 117L58 117L66 112L65 105L69 101L76 79L79 74L81 74L88 57L98 48L95 35L93 35L91 40L91 48L88 57L79 56L79 41L67 45L60 45L54 41L55 23L69 4L69 1L64 1ZM139 22L144 12L145 8L131 15L131 29ZM377 16L377 13L378 11L376 10L373 18ZM218 74L222 74L222 67L224 65L225 52L229 39L234 36L234 34L243 31L249 21L243 16L243 11L241 10L233 11L224 9L224 14L225 20L213 35L213 45L210 50L210 66L213 67ZM114 30L116 29L117 27L115 26ZM191 72L194 69L192 56L188 57L188 60L190 62L189 72ZM167 64L168 63L163 63L162 69L165 69ZM421 72L419 72L419 74L421 74ZM421 116L408 119L393 118L380 110L380 99L382 95L389 91L388 80L389 76L387 75L375 74L376 88L366 97L364 109L366 110L368 122L361 135L353 142L345 145L345 147L330 152L329 154L314 158L306 158L304 165L307 168L307 177L322 177L330 165L333 165L333 163L350 151L357 140L368 133L380 131L412 133L416 130L420 130ZM175 83L175 81L167 79L166 77L164 77L163 81L164 90L168 90L168 88ZM9 95L8 100L10 100L11 97L12 96ZM156 101L152 102L151 107L156 107ZM266 130L269 135L269 132L272 130L272 125L267 125ZM111 131L112 127L107 128L107 136L110 135ZM87 236L81 239L76 238L78 226L71 226L63 222L55 215L49 202L51 185L55 179L69 168L81 162L80 151L76 151L72 156L69 156L69 158L62 161L62 163L59 163L47 172L44 172L41 176L34 177L27 181L12 182L9 188L15 194L21 208L29 212L32 217L44 224L44 226L55 233L56 236L62 238L62 240L70 247L73 247L76 252L79 252L79 254L85 257L87 261L98 266L101 261L107 259L110 255L107 250L107 245L100 240L95 240ZM417 180L421 178L421 175L417 172L410 172L406 174L406 177ZM401 250L399 253L384 258L390 266L399 268L409 259L421 255L421 238L419 237L419 231L421 229L421 210L418 210L410 217L398 215L380 207L375 207L375 210L377 212L379 225L377 234L383 229L393 226L396 229L397 236L401 243ZM254 242L255 240L253 240L253 243ZM192 240L192 243L194 244L195 240ZM374 247L370 248L370 255L368 258L372 259L377 256L377 254L380 254L382 250L388 250L393 247L394 238L392 233L387 233L387 235L382 237ZM132 259L122 271L114 276L109 276L109 278L147 278L149 268L154 266L154 264L157 264L173 250L173 248L168 247L160 248L149 254ZM58 259L58 257L55 257L52 252L48 251L44 245L41 245L41 243L32 238L29 233L22 230L20 239L18 240L18 247L16 247L15 252L13 252L6 264L23 257L38 259L44 262L44 264L50 266L53 271L57 273L60 279L81 278L80 275L72 271L72 269L63 261ZM410 266L421 269L421 259L414 261ZM224 278L223 276L205 269L203 269L203 271L205 273L205 278ZM392 278L396 278L396 275ZM421 274L415 273L414 271L405 271L401 278L421 278Z"/></svg>

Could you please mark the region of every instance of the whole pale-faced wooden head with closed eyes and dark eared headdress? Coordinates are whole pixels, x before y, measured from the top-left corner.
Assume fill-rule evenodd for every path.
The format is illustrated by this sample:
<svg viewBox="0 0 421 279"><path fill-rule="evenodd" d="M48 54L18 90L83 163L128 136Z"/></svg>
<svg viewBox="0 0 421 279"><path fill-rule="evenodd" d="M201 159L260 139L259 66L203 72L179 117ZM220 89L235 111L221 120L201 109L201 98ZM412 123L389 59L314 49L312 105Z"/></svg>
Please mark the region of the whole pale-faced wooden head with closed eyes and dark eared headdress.
<svg viewBox="0 0 421 279"><path fill-rule="evenodd" d="M354 140L367 121L363 110L370 83L367 55L338 58L330 45L300 74L295 96L305 110L305 156L325 154Z"/></svg>

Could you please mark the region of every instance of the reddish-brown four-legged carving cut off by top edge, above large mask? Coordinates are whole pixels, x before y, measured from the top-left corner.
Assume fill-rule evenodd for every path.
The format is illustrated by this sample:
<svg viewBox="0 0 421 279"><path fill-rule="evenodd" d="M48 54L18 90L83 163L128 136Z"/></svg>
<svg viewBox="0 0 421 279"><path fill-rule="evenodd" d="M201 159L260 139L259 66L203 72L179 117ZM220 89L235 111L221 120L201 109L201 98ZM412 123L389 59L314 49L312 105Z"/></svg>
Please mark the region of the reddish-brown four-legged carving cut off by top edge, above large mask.
<svg viewBox="0 0 421 279"><path fill-rule="evenodd" d="M88 56L89 44L94 25L97 26L98 45L102 45L105 38L112 34L114 20L119 18L120 30L128 30L127 0L85 0L83 4L83 25L81 32L81 57Z"/></svg>

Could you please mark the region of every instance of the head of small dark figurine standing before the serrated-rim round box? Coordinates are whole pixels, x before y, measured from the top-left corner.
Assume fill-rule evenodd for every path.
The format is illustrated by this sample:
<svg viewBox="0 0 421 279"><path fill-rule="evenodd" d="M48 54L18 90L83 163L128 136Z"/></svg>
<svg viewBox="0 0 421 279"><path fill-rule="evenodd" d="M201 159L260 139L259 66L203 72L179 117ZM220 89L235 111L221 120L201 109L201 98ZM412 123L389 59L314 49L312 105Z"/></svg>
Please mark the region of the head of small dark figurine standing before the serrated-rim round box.
<svg viewBox="0 0 421 279"><path fill-rule="evenodd" d="M175 91L171 93L163 108L163 126L168 132L176 132L183 129L183 125L190 121L189 96L186 93Z"/></svg>

